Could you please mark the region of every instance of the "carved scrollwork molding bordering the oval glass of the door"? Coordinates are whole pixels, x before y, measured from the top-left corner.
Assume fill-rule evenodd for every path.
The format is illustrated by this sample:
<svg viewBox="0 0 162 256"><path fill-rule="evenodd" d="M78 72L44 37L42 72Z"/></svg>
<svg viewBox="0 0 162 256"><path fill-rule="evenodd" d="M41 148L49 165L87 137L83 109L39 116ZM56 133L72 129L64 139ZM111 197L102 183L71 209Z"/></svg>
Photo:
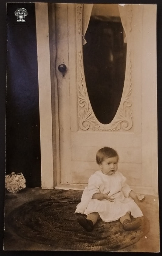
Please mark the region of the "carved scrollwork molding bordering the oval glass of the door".
<svg viewBox="0 0 162 256"><path fill-rule="evenodd" d="M81 6L77 6L78 33L81 26ZM132 19L132 12L130 15ZM81 36L81 35L80 35ZM110 124L101 124L92 110L91 103L88 97L86 82L84 78L83 53L82 44L77 55L77 76L78 76L78 123L81 130L94 131L118 131L119 129L130 130L133 126L132 121L132 101L130 95L132 92L132 62L131 51L127 52L126 63L126 83L123 87L122 99L115 117Z"/></svg>

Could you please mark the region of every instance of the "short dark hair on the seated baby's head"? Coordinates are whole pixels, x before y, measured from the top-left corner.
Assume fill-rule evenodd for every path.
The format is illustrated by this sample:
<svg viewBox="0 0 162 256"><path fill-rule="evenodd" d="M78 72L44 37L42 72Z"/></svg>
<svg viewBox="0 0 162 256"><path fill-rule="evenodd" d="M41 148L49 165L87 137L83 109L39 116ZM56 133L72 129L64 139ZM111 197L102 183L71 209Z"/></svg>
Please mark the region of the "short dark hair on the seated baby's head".
<svg viewBox="0 0 162 256"><path fill-rule="evenodd" d="M118 153L114 149L109 147L103 147L97 151L96 162L97 164L101 164L104 161L104 158L109 157L118 157L119 160Z"/></svg>

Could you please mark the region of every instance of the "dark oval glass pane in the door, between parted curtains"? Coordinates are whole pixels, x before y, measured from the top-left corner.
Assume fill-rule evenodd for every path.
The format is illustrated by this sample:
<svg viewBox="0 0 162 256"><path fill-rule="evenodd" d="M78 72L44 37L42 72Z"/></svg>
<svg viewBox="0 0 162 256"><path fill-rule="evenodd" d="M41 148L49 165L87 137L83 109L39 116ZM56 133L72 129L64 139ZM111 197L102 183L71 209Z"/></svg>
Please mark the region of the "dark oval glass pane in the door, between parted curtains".
<svg viewBox="0 0 162 256"><path fill-rule="evenodd" d="M102 124L113 120L123 92L126 43L118 5L94 4L83 45L89 100Z"/></svg>

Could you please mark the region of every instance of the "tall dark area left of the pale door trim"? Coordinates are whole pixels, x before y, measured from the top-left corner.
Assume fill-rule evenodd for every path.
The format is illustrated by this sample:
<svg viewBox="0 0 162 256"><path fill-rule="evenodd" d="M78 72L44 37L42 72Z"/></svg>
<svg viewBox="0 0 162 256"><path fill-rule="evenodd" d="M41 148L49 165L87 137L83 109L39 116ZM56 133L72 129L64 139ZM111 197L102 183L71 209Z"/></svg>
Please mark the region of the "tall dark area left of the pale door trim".
<svg viewBox="0 0 162 256"><path fill-rule="evenodd" d="M26 22L15 11L25 8ZM34 3L7 4L6 174L22 172L41 186L40 117Z"/></svg>

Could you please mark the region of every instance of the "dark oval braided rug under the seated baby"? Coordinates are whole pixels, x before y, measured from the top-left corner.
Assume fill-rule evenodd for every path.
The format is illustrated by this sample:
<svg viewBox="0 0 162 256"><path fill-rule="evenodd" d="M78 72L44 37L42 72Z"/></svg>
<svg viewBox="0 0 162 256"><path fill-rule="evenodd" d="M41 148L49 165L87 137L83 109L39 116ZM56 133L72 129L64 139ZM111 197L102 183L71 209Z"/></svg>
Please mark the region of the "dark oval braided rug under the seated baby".
<svg viewBox="0 0 162 256"><path fill-rule="evenodd" d="M117 251L136 243L149 231L149 222L135 231L124 231L121 223L99 220L92 232L85 231L75 214L79 198L54 195L30 201L14 209L8 223L19 236L53 246L55 250Z"/></svg>

